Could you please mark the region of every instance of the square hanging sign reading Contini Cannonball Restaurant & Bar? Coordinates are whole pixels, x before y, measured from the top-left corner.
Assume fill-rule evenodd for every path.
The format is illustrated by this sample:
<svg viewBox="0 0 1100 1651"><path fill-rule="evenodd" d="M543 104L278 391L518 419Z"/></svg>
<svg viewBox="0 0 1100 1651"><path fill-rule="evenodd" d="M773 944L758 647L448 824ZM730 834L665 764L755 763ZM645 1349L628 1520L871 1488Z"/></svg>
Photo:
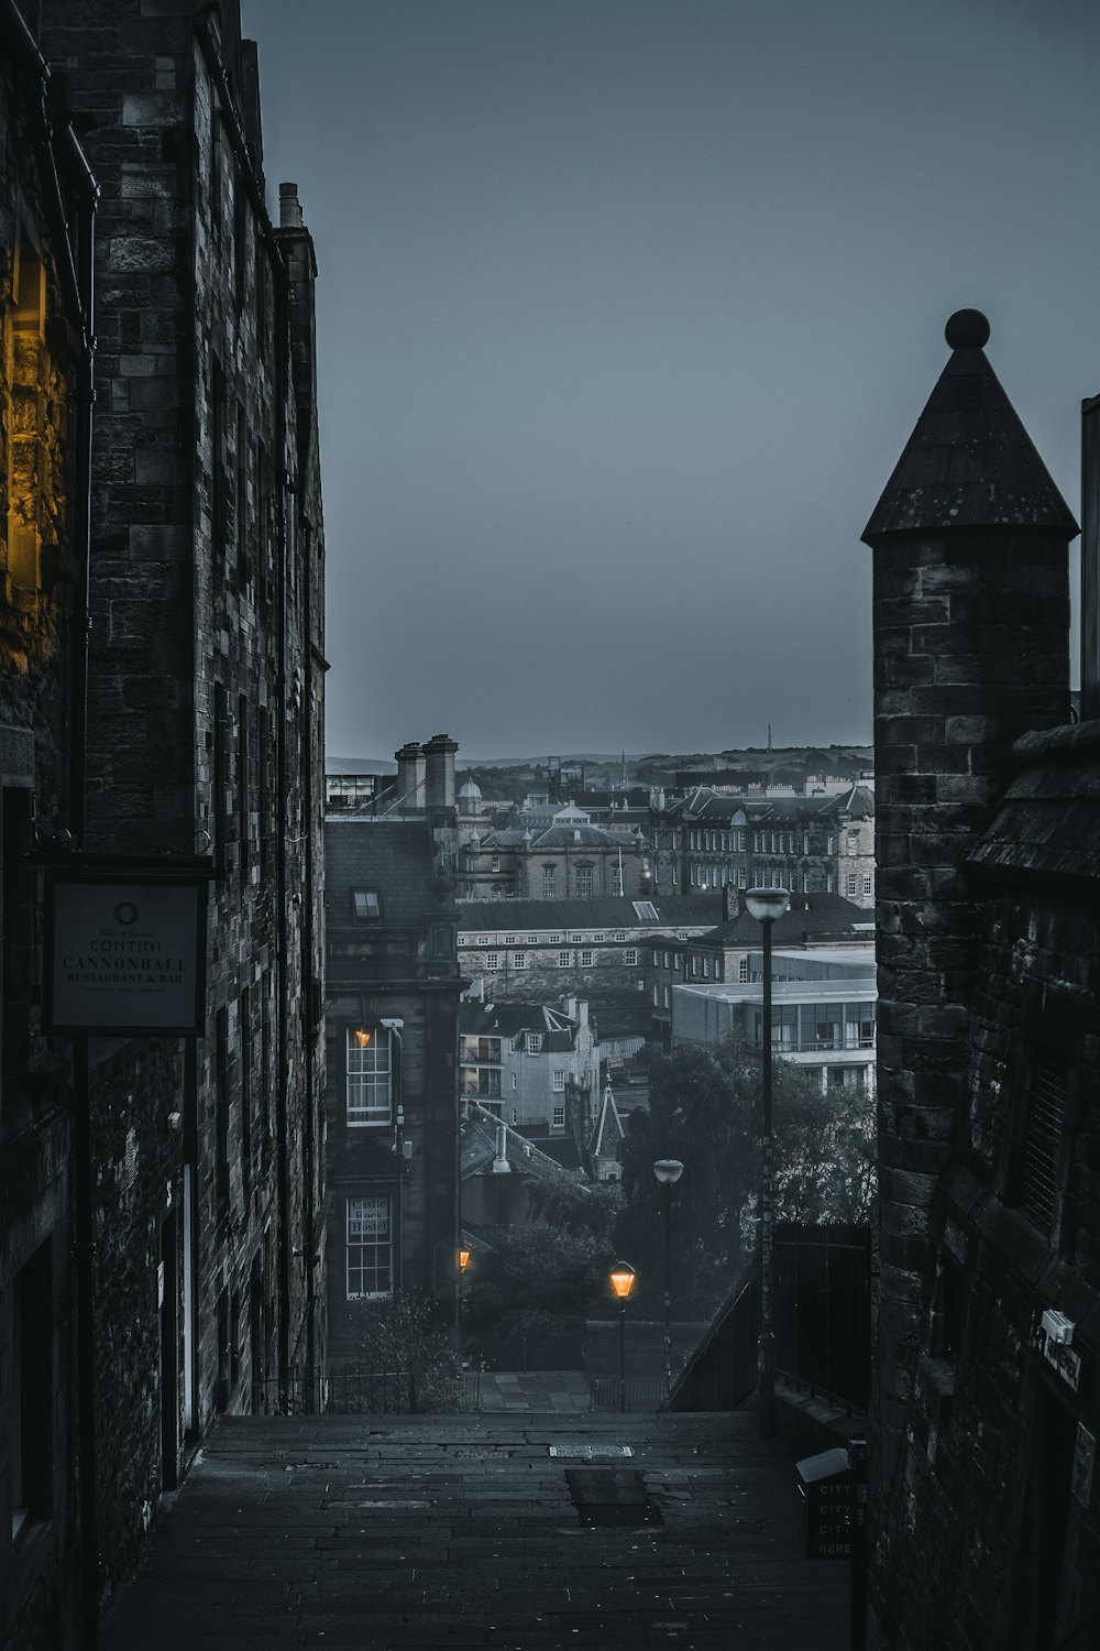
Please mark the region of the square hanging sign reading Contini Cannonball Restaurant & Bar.
<svg viewBox="0 0 1100 1651"><path fill-rule="evenodd" d="M206 1001L206 880L49 870L45 1030L198 1037Z"/></svg>

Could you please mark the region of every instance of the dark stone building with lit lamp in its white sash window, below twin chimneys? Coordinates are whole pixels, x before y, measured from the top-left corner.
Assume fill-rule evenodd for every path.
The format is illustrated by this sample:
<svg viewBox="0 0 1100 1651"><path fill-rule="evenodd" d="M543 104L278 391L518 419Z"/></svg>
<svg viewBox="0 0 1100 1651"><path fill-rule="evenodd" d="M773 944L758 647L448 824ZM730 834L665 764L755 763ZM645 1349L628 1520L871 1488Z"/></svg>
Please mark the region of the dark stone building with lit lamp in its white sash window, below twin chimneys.
<svg viewBox="0 0 1100 1651"><path fill-rule="evenodd" d="M429 1289L450 1313L457 1288L454 746L440 736L424 751L424 788L404 788L399 812L325 821L328 1344L336 1360L361 1346L360 1303L404 1284ZM447 792L450 804L412 806L416 796Z"/></svg>

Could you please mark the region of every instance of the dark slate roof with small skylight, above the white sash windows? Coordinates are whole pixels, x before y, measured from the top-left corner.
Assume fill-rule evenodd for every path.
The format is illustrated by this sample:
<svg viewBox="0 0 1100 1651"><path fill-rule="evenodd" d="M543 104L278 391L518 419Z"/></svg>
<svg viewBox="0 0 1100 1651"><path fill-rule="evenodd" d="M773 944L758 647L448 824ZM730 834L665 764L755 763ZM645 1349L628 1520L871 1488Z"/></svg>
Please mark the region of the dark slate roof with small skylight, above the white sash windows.
<svg viewBox="0 0 1100 1651"><path fill-rule="evenodd" d="M353 888L378 888L383 928L414 928L425 911L450 908L432 890L435 849L427 819L388 821L335 814L325 821L325 908L330 923L350 923Z"/></svg>

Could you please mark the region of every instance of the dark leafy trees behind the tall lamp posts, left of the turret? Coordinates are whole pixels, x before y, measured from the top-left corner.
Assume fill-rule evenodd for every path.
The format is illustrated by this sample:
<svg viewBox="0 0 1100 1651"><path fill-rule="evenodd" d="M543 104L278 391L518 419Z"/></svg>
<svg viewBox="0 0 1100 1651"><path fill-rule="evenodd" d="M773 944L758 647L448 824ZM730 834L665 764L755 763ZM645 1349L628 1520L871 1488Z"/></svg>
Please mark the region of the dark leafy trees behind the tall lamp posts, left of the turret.
<svg viewBox="0 0 1100 1651"><path fill-rule="evenodd" d="M673 1299L709 1316L757 1243L762 1078L737 1038L650 1057L650 1109L633 1113L625 1146L618 1248L637 1270L638 1298L663 1294L658 1157L683 1159L673 1189ZM773 1217L863 1220L871 1210L874 1108L863 1090L821 1090L818 1073L772 1067Z"/></svg>

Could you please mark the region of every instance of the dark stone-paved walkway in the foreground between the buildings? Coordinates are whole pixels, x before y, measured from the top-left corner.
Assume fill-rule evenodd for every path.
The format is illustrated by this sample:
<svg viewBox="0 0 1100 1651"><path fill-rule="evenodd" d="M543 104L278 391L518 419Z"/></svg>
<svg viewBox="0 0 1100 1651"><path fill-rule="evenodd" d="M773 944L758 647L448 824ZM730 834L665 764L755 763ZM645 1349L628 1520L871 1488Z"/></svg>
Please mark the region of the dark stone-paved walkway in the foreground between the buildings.
<svg viewBox="0 0 1100 1651"><path fill-rule="evenodd" d="M600 1466L660 1522L585 1524L566 1474ZM750 1413L234 1418L101 1648L843 1651L846 1588Z"/></svg>

